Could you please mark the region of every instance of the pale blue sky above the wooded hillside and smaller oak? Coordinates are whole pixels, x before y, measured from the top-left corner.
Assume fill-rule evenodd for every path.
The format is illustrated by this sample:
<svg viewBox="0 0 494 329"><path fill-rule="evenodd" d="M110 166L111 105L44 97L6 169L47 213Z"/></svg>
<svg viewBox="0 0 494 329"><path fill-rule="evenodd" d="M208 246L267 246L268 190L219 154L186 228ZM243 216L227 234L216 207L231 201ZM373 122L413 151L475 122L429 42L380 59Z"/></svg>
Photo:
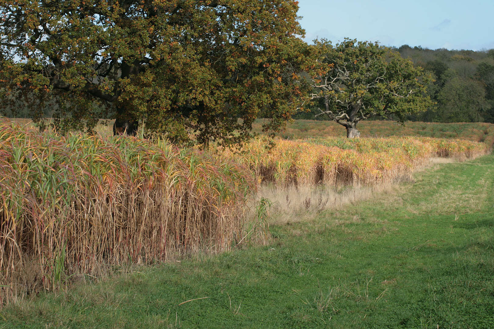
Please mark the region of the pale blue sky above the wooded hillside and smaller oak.
<svg viewBox="0 0 494 329"><path fill-rule="evenodd" d="M494 48L494 0L299 0L307 42L316 37L386 46Z"/></svg>

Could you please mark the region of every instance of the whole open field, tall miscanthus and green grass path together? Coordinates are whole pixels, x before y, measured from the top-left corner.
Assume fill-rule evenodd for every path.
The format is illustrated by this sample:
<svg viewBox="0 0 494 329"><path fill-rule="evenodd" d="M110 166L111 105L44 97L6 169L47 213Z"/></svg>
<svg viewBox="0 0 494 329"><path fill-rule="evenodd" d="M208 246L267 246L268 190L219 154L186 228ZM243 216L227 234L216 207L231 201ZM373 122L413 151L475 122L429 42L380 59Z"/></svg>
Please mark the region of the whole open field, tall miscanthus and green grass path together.
<svg viewBox="0 0 494 329"><path fill-rule="evenodd" d="M494 325L494 125L359 129L200 150L2 119L1 325Z"/></svg>

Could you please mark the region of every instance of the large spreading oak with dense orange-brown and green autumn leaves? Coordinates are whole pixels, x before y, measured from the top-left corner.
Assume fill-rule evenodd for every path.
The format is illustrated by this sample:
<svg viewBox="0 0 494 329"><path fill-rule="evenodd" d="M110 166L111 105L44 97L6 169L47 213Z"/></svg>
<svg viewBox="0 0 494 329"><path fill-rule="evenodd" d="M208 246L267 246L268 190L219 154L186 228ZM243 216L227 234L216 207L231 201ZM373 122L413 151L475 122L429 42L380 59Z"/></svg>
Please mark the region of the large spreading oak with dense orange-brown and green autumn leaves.
<svg viewBox="0 0 494 329"><path fill-rule="evenodd" d="M281 127L314 65L295 0L5 0L1 106L92 128L104 110L175 141L237 143ZM304 83L306 86L304 86ZM84 127L85 126L85 127ZM116 127L119 128L119 127Z"/></svg>

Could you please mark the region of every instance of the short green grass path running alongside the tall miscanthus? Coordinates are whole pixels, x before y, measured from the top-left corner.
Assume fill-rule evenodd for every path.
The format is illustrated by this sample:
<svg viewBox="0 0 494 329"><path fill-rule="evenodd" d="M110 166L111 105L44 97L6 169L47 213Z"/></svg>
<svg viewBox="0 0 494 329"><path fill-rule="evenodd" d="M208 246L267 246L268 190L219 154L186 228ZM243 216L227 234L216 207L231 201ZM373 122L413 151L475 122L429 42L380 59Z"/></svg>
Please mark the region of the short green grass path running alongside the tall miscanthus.
<svg viewBox="0 0 494 329"><path fill-rule="evenodd" d="M493 207L493 155L435 165L269 246L41 296L0 328L494 328Z"/></svg>

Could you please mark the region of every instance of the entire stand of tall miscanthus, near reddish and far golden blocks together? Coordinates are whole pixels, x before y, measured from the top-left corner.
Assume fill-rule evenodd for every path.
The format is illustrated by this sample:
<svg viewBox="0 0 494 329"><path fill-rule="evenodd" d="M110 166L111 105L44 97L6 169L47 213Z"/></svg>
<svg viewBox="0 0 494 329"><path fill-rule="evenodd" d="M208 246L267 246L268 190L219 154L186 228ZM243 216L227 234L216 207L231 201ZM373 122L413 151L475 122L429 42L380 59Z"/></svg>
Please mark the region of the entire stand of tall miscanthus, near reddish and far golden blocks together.
<svg viewBox="0 0 494 329"><path fill-rule="evenodd" d="M431 157L490 151L488 143L458 139L318 137L204 152L113 137L111 123L96 130L59 136L0 122L0 302L114 265L223 251L254 234L265 241L267 205L281 197L287 209L293 202L297 212L323 211L328 202L354 203L409 181ZM255 220L246 223L247 197L266 184L272 191L254 198L264 201L250 207ZM334 190L314 192L318 186ZM340 193L344 186L360 192Z"/></svg>

